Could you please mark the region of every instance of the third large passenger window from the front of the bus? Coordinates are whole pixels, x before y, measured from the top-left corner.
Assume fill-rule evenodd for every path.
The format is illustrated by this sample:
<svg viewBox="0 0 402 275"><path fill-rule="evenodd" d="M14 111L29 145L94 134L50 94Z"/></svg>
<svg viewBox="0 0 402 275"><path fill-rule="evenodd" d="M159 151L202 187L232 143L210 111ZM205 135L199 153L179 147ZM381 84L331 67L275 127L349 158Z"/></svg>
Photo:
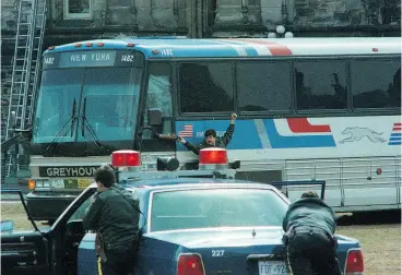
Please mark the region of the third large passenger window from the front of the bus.
<svg viewBox="0 0 402 275"><path fill-rule="evenodd" d="M345 61L295 62L297 109L346 109Z"/></svg>

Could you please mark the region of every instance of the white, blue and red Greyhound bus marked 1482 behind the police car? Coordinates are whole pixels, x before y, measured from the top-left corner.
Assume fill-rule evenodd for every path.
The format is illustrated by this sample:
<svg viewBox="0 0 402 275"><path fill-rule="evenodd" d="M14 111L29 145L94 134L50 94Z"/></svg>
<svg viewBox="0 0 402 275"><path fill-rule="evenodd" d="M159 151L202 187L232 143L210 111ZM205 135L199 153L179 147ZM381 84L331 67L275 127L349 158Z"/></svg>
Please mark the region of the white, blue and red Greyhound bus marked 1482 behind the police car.
<svg viewBox="0 0 402 275"><path fill-rule="evenodd" d="M193 169L198 156L168 134L197 144L209 128L222 135L236 112L227 150L229 160L240 160L237 178L322 180L338 212L400 208L400 37L127 38L50 47L28 207L35 219L57 217L117 150L141 152L144 170L156 169L157 157Z"/></svg>

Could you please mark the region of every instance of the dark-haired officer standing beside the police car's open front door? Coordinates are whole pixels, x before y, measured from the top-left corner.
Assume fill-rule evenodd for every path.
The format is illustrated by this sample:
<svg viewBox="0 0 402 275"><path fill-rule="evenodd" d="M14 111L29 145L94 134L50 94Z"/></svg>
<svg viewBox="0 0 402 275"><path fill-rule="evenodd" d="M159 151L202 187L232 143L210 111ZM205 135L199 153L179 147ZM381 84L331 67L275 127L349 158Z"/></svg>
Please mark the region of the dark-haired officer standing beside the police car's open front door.
<svg viewBox="0 0 402 275"><path fill-rule="evenodd" d="M139 200L116 183L110 166L94 175L97 192L83 218L85 230L96 230L98 274L133 274L138 244Z"/></svg>

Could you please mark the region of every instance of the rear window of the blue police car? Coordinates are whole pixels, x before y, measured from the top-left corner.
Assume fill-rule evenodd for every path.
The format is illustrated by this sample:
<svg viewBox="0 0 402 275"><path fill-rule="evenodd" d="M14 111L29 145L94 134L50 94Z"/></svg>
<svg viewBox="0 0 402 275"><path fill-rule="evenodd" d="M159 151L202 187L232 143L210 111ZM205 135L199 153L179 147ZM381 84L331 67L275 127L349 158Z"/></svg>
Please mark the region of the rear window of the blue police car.
<svg viewBox="0 0 402 275"><path fill-rule="evenodd" d="M151 231L281 226L286 203L263 189L175 190L154 193Z"/></svg>

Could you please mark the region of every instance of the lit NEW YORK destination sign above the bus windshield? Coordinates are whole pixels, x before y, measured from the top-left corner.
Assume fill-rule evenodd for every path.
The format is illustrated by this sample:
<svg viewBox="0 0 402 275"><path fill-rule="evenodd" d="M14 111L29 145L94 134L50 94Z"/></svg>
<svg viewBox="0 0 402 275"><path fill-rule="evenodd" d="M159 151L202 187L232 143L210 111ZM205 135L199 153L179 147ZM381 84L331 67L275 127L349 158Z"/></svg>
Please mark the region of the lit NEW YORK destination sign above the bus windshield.
<svg viewBox="0 0 402 275"><path fill-rule="evenodd" d="M44 56L44 70L80 67L132 67L135 52L118 50L69 51Z"/></svg>

